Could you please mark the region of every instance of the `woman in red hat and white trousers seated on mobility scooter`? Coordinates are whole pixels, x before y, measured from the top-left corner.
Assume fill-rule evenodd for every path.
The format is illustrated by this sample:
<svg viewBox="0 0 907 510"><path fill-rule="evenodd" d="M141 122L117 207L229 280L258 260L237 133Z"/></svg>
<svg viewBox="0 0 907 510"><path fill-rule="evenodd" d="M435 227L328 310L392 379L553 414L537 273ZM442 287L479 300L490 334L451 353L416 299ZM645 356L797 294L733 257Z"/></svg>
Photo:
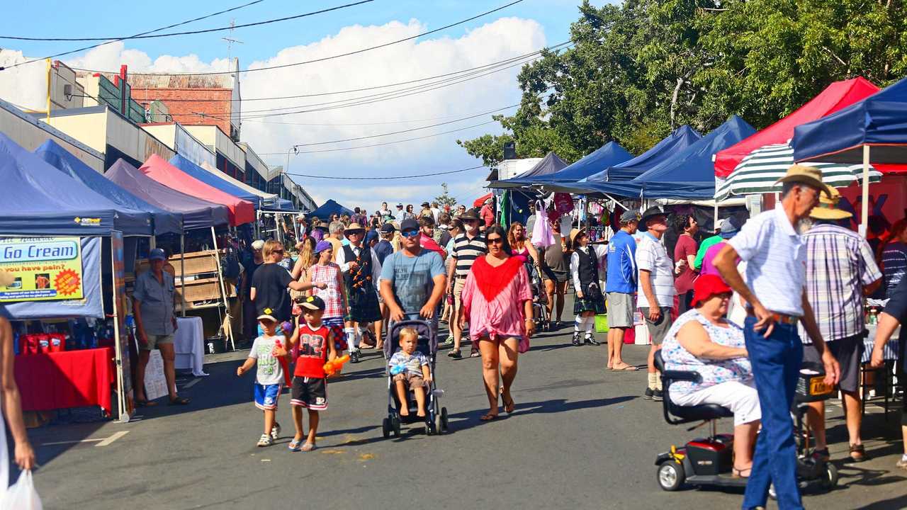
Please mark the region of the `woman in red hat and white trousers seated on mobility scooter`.
<svg viewBox="0 0 907 510"><path fill-rule="evenodd" d="M731 289L712 274L696 280L692 306L678 317L661 348L667 370L696 371L698 382L678 381L668 398L678 406L716 404L734 413L734 476L749 476L759 419L759 397L746 358L743 329L725 319Z"/></svg>

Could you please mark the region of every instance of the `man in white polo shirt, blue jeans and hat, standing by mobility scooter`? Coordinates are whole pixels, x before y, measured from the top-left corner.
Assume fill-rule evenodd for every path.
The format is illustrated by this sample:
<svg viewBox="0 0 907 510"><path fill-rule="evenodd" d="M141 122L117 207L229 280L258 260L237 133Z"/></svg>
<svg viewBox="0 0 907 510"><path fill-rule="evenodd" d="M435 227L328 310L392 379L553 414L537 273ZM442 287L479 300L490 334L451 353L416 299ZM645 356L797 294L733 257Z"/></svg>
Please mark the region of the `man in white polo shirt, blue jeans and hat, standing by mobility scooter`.
<svg viewBox="0 0 907 510"><path fill-rule="evenodd" d="M721 277L748 303L744 337L762 407L762 433L746 484L745 509L764 507L771 484L779 508L803 508L790 416L803 360L798 322L803 322L822 359L825 382L834 385L840 374L806 296L806 244L799 232L819 195L832 191L822 181L822 172L802 165L790 167L778 182L782 199L775 210L746 222L714 260ZM747 262L743 275L736 270L737 257Z"/></svg>

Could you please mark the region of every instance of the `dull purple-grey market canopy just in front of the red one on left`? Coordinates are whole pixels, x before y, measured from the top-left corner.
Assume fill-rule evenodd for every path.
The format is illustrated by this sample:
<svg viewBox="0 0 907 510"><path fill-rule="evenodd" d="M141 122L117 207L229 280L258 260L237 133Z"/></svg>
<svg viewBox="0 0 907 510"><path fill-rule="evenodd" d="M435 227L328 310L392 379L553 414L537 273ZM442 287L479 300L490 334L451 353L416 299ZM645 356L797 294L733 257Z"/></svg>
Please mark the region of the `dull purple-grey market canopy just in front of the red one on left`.
<svg viewBox="0 0 907 510"><path fill-rule="evenodd" d="M229 223L227 207L219 203L203 201L172 188L168 188L148 177L128 162L117 160L104 173L104 177L116 182L126 190L151 205L165 211L182 214L184 230L200 229Z"/></svg>

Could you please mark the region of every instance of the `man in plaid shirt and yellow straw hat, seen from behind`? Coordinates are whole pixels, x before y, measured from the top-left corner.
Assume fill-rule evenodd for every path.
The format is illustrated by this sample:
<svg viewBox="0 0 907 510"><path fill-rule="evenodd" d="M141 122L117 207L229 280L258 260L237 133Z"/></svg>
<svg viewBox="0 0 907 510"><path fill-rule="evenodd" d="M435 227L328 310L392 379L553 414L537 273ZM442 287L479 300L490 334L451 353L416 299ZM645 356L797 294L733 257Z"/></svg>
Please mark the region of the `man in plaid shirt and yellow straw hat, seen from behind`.
<svg viewBox="0 0 907 510"><path fill-rule="evenodd" d="M863 358L863 290L872 293L882 282L873 249L859 234L846 227L853 216L838 209L841 195L834 188L822 197L809 216L815 226L806 232L806 297L813 308L828 350L841 364L838 387L844 393L844 417L850 436L850 457L863 462L866 453L860 439L859 378ZM821 362L818 351L803 332L803 358ZM815 432L816 454L828 458L825 444L824 401L810 404L809 425Z"/></svg>

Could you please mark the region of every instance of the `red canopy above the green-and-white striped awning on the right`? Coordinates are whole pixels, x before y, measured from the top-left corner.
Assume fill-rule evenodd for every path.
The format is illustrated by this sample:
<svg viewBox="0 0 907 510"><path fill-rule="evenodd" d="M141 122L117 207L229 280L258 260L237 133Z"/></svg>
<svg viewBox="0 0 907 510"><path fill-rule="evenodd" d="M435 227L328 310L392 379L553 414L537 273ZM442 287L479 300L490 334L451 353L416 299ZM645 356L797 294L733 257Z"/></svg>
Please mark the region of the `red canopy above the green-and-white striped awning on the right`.
<svg viewBox="0 0 907 510"><path fill-rule="evenodd" d="M859 76L828 85L822 93L796 109L794 113L724 151L717 152L715 155L716 177L725 178L730 175L746 154L760 147L788 142L794 137L796 126L821 119L825 115L842 110L877 92L879 92L879 87Z"/></svg>

